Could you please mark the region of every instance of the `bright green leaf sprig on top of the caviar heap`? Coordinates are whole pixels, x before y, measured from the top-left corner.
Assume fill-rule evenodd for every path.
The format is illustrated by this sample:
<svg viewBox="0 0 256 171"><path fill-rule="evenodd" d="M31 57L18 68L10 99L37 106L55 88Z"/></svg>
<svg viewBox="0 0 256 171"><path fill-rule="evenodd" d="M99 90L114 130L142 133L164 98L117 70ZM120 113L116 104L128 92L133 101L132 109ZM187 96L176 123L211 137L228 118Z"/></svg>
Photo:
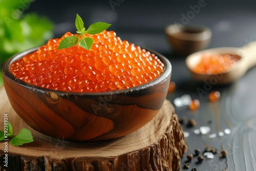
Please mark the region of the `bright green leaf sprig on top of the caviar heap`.
<svg viewBox="0 0 256 171"><path fill-rule="evenodd" d="M88 29L86 30L86 28L84 27L82 18L78 14L76 14L75 26L77 29L76 32L79 35L63 38L60 41L58 49L64 49L64 48L69 48L69 47L75 46L78 42L78 37L80 35L82 35L82 39L80 39L78 45L86 50L89 50L93 45L93 39L90 37L84 37L84 34L86 34L86 33L98 34L102 31L108 29L111 26L111 24L98 22L98 23L94 23L94 24L90 25L88 27Z"/></svg>

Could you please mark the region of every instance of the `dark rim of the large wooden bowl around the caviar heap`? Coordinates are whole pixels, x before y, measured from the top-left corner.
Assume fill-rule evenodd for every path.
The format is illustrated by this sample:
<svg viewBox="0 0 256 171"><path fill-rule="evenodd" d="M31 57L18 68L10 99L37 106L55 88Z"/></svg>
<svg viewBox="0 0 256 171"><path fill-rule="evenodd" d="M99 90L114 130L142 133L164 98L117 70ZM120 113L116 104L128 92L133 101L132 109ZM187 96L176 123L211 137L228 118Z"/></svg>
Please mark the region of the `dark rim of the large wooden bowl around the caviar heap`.
<svg viewBox="0 0 256 171"><path fill-rule="evenodd" d="M129 88L129 89L122 89L122 90L113 90L113 91L108 91L108 92L68 92L68 91L59 91L59 90L53 90L53 89L47 89L47 88L42 88L39 86L35 86L33 84L27 83L23 80L20 80L19 78L15 77L11 72L10 72L10 65L11 63L13 63L14 61L16 61L17 59L22 58L24 55L32 53L36 50L38 50L41 46L38 47L34 47L31 49L28 49L26 51L17 53L15 55L13 55L12 57L10 57L3 65L2 68L2 73L5 77L7 77L9 80L20 84L24 87L28 87L31 88L34 91L47 91L47 92L55 92L57 94L62 94L62 95L75 95L75 96L91 96L91 95L97 95L97 96L108 96L108 95L113 95L113 94L127 94L127 93L131 93L137 90L143 90L143 89L147 89L148 87L152 87L152 84L154 82L154 84L159 84L163 81L165 81L168 77L168 75L171 75L172 73L172 65L170 63L170 61L163 56L162 54L145 48L145 47L141 47L141 49L145 49L146 51L155 54L160 60L161 62L164 64L164 70L162 72L162 74L160 76L158 76L157 78L155 78L154 80L151 80L150 82L146 82L144 84L141 84L140 86L135 86L133 88Z"/></svg>

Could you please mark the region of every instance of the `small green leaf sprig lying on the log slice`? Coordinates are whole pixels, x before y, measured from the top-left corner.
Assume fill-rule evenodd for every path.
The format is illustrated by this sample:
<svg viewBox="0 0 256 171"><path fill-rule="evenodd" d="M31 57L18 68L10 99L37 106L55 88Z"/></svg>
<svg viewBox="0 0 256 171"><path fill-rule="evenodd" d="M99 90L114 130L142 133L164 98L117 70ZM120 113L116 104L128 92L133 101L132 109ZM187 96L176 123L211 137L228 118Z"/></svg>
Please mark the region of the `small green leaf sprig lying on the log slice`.
<svg viewBox="0 0 256 171"><path fill-rule="evenodd" d="M9 121L7 123L7 127L5 126L5 132L0 131L0 141L12 138L10 140L10 143L15 146L23 145L25 143L34 141L31 132L27 129L22 129L17 135L13 135L11 123Z"/></svg>

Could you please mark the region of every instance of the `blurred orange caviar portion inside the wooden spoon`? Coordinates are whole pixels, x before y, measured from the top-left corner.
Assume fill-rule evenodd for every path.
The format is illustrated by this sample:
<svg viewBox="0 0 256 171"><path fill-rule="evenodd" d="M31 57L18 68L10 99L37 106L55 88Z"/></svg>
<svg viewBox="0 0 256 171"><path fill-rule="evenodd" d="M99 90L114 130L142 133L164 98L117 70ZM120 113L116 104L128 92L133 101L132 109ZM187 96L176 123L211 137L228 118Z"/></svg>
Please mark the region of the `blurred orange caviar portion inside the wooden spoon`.
<svg viewBox="0 0 256 171"><path fill-rule="evenodd" d="M194 68L194 72L198 74L221 74L226 72L240 58L236 54L204 54L198 65Z"/></svg>

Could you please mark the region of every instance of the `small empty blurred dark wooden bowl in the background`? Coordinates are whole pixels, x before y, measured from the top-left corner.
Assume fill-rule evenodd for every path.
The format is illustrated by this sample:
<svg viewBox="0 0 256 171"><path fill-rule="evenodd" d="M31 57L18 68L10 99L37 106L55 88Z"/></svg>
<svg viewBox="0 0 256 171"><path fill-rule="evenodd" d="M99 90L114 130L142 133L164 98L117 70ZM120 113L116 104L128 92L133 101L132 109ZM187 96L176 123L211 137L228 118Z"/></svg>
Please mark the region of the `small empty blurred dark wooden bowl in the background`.
<svg viewBox="0 0 256 171"><path fill-rule="evenodd" d="M188 55L208 47L211 30L202 25L173 24L165 28L169 45L174 52Z"/></svg>

